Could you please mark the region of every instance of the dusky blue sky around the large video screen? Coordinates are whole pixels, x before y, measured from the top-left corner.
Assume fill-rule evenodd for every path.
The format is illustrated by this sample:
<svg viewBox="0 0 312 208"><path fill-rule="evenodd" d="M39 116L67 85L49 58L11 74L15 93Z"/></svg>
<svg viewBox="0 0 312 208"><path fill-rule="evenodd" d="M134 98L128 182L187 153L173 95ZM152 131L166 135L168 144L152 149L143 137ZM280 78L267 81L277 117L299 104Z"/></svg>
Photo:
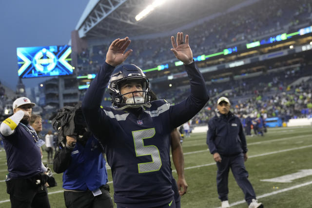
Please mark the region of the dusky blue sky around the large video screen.
<svg viewBox="0 0 312 208"><path fill-rule="evenodd" d="M0 80L12 90L18 83L17 47L64 45L70 40L89 0L1 0ZM51 77L50 77L51 78ZM25 87L48 78L22 79Z"/></svg>

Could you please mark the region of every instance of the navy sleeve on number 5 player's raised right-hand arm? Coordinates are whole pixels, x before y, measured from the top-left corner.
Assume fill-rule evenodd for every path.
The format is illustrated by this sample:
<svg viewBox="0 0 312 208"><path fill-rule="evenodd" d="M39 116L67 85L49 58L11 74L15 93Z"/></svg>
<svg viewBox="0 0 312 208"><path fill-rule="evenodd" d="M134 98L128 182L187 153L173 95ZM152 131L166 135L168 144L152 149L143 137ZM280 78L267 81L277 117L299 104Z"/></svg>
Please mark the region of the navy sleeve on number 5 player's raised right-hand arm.
<svg viewBox="0 0 312 208"><path fill-rule="evenodd" d="M182 102L170 107L171 128L177 128L195 116L209 100L205 80L195 62L184 65L190 79L191 94Z"/></svg>

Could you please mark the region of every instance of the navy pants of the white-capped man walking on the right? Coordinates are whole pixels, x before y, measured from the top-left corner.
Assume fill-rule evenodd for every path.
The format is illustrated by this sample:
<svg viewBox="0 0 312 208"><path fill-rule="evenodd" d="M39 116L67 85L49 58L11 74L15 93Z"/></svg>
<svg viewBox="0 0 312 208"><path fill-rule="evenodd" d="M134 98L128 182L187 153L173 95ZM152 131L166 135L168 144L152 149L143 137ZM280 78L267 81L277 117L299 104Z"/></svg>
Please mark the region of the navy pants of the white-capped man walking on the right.
<svg viewBox="0 0 312 208"><path fill-rule="evenodd" d="M231 168L234 178L238 186L243 190L245 194L245 200L248 204L252 199L255 199L254 188L248 180L248 172L244 164L244 155L240 153L234 156L220 155L222 158L221 163L217 162L218 167L216 176L216 185L218 190L219 199L221 201L228 200L228 178L229 170Z"/></svg>

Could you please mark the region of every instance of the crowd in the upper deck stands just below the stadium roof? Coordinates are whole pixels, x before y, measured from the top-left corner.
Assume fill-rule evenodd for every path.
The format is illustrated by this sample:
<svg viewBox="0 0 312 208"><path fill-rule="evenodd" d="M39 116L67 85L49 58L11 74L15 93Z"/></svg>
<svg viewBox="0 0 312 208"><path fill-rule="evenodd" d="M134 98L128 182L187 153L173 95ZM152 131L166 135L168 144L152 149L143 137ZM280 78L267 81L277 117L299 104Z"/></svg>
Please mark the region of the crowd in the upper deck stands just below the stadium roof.
<svg viewBox="0 0 312 208"><path fill-rule="evenodd" d="M265 13L258 9L263 5L270 5ZM245 45L266 34L294 32L296 25L312 23L311 6L309 0L259 0L238 10L222 13L216 18L217 21L210 19L194 25L186 30L186 34L193 38L190 44L195 57L213 54L223 51L229 44ZM233 19L233 16L236 18ZM95 45L90 51L84 50L78 56L79 68L88 71L88 74L96 73L108 47L108 44ZM133 41L131 48L134 53L128 62L135 62L142 69L172 62L175 59L168 47L170 39L166 37ZM147 60L147 57L152 58Z"/></svg>

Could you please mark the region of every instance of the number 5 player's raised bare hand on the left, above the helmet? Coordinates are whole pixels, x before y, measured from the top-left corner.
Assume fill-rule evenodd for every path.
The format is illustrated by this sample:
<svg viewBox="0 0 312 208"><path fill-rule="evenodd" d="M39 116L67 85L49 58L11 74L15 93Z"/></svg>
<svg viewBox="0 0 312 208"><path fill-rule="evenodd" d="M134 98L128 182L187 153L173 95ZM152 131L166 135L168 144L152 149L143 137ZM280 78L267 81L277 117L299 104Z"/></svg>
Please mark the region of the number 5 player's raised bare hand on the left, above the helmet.
<svg viewBox="0 0 312 208"><path fill-rule="evenodd" d="M131 40L128 37L123 39L116 39L109 46L107 54L106 54L106 63L112 66L117 66L122 64L127 57L132 53L132 50L128 50L126 53L126 49L128 48Z"/></svg>

